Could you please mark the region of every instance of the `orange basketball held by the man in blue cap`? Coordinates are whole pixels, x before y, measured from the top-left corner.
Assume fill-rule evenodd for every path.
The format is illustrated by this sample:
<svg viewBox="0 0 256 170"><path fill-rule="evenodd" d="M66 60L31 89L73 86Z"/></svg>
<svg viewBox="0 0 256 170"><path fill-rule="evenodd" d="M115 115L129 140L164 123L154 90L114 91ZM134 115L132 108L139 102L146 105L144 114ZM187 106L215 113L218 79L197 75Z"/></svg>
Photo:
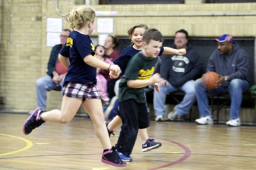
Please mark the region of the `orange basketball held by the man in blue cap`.
<svg viewBox="0 0 256 170"><path fill-rule="evenodd" d="M220 78L218 77L218 74L214 71L209 71L203 74L203 77L202 77L204 86L208 89L215 89L216 81L218 81L219 79Z"/></svg>

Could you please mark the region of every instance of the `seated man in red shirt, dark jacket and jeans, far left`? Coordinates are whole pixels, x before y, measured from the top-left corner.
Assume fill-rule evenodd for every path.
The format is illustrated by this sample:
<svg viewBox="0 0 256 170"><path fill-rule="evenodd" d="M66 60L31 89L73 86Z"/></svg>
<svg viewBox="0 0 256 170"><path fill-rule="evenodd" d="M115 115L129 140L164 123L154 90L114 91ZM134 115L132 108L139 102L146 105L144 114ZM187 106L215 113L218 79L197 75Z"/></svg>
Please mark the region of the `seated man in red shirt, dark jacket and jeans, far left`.
<svg viewBox="0 0 256 170"><path fill-rule="evenodd" d="M46 111L47 91L56 90L62 91L64 77L67 74L67 69L61 64L58 59L58 54L63 45L67 42L70 34L69 29L61 31L61 44L52 47L52 51L48 61L47 76L39 78L36 83L37 105L42 111ZM32 113L32 112L29 112Z"/></svg>

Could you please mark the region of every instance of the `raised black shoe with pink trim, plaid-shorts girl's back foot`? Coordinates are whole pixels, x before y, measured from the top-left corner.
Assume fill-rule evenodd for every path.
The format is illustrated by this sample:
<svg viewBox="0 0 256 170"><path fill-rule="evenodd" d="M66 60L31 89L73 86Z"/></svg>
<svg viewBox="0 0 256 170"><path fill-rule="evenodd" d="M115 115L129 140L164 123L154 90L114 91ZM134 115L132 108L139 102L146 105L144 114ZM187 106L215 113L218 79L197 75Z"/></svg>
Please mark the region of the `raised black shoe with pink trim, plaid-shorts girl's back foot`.
<svg viewBox="0 0 256 170"><path fill-rule="evenodd" d="M41 119L41 117L39 117L41 113L43 113L41 111L41 109L37 108L37 109L35 109L35 111L33 111L33 113L31 113L29 118L26 119L26 121L24 122L24 125L23 125L23 133L25 135L28 135L29 133L32 132L33 129L41 126L42 123L45 122Z"/></svg>

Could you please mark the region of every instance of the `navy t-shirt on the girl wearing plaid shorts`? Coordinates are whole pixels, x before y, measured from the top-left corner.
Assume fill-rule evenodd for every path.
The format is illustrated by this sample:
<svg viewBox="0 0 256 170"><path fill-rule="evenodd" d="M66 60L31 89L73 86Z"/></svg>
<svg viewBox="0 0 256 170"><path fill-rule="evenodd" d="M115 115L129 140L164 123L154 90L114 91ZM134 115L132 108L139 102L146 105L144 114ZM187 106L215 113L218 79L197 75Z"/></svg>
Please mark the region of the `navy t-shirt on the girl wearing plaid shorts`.
<svg viewBox="0 0 256 170"><path fill-rule="evenodd" d="M70 33L66 45L60 51L62 56L68 57L70 60L70 66L68 67L64 83L75 82L84 84L97 82L96 68L84 62L84 57L89 54L96 57L94 49L89 35L84 35L77 31Z"/></svg>

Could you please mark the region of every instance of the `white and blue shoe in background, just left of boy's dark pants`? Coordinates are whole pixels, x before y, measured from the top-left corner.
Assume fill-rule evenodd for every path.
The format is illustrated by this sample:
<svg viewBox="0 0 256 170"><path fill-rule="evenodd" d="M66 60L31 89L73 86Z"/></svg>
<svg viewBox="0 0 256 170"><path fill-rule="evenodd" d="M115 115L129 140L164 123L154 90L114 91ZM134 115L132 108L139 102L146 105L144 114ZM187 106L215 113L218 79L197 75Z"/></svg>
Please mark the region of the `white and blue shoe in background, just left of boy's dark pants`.
<svg viewBox="0 0 256 170"><path fill-rule="evenodd" d="M108 108L104 112L105 120L113 119L117 115L118 111L118 96L113 96Z"/></svg>

